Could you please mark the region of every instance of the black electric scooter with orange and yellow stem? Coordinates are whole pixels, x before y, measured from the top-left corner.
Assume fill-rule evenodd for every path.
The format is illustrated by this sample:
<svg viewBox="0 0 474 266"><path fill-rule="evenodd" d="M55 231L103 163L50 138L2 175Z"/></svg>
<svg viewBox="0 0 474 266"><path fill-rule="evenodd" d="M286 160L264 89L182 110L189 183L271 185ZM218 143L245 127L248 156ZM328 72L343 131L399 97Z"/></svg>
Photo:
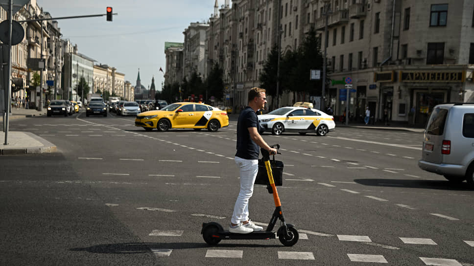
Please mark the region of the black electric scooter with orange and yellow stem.
<svg viewBox="0 0 474 266"><path fill-rule="evenodd" d="M280 149L280 144L271 145L270 147L276 148L278 150ZM270 219L266 230L256 231L249 234L236 234L231 233L228 230L224 230L222 225L217 222L203 222L201 234L207 244L216 245L221 240L230 239L267 240L275 239L277 236L280 242L285 246L292 246L298 242L298 230L293 224L286 223L284 221L282 203L280 202L280 198L278 197L278 191L275 186L272 168L270 165L270 154L264 149L261 149L261 154L268 175L269 184L267 184L267 189L269 193L273 194L273 200L275 201L275 211L273 212L272 218ZM278 219L280 219L281 226L275 235L275 231L273 231L273 228Z"/></svg>

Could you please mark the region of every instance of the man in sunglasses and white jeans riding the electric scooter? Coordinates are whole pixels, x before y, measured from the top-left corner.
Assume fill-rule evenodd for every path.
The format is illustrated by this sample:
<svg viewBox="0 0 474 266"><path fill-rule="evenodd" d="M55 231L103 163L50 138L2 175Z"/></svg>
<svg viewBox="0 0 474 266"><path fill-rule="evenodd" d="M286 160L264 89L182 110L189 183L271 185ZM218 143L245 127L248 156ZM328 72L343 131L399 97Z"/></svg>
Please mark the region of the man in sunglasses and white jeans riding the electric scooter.
<svg viewBox="0 0 474 266"><path fill-rule="evenodd" d="M248 106L239 114L237 120L237 153L235 161L240 171L240 191L234 206L229 231L248 234L263 228L249 219L249 199L254 191L255 178L259 170L259 147L270 155L277 153L260 135L260 123L256 112L265 108L265 89L252 88L248 93Z"/></svg>

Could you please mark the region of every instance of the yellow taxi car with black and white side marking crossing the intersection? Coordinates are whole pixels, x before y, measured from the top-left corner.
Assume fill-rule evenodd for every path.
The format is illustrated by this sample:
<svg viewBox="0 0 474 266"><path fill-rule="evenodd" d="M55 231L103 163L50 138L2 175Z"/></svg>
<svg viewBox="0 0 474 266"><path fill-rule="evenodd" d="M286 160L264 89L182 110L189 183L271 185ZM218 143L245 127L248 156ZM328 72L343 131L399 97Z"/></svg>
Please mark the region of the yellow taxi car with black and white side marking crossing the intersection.
<svg viewBox="0 0 474 266"><path fill-rule="evenodd" d="M168 129L207 128L211 132L229 126L229 116L226 111L202 103L182 102L173 103L160 110L145 111L137 115L135 126L146 131L156 128L158 131Z"/></svg>

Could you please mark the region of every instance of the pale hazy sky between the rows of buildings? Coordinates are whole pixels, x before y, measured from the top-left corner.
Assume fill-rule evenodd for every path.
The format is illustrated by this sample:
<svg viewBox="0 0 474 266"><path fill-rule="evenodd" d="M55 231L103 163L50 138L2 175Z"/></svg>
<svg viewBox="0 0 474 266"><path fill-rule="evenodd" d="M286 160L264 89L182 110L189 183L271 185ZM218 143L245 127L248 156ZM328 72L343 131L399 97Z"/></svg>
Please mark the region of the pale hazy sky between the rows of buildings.
<svg viewBox="0 0 474 266"><path fill-rule="evenodd" d="M96 62L116 67L135 86L138 69L142 85L151 78L161 90L166 72L165 42L184 42L183 31L191 22L207 22L215 0L37 0L51 17L105 14L111 6L113 21L106 17L58 20L63 39L77 44L78 52ZM218 0L219 6L224 0Z"/></svg>

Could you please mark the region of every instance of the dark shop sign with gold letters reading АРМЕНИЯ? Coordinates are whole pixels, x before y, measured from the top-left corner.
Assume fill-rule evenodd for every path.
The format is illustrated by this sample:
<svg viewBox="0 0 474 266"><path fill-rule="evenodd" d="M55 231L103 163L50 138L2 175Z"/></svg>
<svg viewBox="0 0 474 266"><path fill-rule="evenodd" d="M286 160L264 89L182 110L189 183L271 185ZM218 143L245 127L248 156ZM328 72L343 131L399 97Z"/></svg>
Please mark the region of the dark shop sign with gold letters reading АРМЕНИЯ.
<svg viewBox="0 0 474 266"><path fill-rule="evenodd" d="M400 82L464 82L466 71L400 71Z"/></svg>

